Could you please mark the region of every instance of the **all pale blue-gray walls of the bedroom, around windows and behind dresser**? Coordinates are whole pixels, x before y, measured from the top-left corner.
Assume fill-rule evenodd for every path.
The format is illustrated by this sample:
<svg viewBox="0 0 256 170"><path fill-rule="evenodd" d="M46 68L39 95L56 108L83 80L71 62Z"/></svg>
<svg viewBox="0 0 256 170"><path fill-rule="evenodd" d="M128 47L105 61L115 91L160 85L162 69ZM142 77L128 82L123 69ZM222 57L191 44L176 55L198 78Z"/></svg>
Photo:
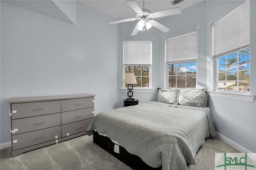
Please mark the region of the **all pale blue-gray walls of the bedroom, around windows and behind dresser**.
<svg viewBox="0 0 256 170"><path fill-rule="evenodd" d="M211 24L239 3L207 0L182 10L180 15L158 20L170 28L167 33L152 27L131 36L136 21L107 25L113 18L79 2L77 26L1 2L1 143L10 141L7 112L8 99L12 97L92 93L96 94L96 113L111 109L111 103L122 107L127 96L126 92L120 92L124 40L152 40L155 90L134 92L139 103L156 100L156 88L165 87L164 40L193 30L198 30L198 88L213 90ZM256 1L251 1L251 8L256 9ZM250 91L253 95L256 94L255 30L256 11L251 10L250 84L254 86ZM102 65L108 65L108 77ZM218 133L256 152L255 101L210 96L208 105Z"/></svg>

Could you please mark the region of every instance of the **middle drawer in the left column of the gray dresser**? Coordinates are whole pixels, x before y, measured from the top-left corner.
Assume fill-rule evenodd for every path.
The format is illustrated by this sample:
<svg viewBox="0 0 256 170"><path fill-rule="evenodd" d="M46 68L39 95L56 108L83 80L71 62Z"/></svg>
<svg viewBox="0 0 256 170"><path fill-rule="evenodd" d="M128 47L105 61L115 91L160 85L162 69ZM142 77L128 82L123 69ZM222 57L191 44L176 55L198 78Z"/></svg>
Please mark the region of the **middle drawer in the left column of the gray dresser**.
<svg viewBox="0 0 256 170"><path fill-rule="evenodd" d="M60 117L61 113L55 113L50 115L14 119L12 120L12 130L18 129L18 131L12 133L12 135L60 126Z"/></svg>

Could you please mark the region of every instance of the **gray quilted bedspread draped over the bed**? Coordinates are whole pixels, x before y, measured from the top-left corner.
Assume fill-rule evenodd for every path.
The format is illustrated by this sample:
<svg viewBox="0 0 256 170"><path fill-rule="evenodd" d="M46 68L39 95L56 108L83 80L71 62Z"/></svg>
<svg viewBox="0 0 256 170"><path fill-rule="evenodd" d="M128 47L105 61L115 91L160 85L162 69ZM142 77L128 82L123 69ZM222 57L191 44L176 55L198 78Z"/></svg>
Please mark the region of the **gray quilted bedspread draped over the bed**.
<svg viewBox="0 0 256 170"><path fill-rule="evenodd" d="M177 104L148 102L101 112L86 132L106 150L111 145L106 143L112 143L116 157L120 148L137 156L147 169L187 170L187 164L196 164L196 152L205 138L216 133L209 107L179 105L178 97ZM100 143L98 137L109 140Z"/></svg>

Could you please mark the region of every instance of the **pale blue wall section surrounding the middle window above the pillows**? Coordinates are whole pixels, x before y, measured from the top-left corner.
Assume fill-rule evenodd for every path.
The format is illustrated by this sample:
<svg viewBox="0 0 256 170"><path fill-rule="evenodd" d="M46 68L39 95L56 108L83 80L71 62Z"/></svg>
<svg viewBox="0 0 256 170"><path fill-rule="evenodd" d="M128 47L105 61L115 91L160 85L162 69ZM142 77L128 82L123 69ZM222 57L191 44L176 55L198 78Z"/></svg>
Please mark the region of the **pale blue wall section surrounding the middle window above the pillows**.
<svg viewBox="0 0 256 170"><path fill-rule="evenodd" d="M166 77L165 65L165 39L176 35L198 31L198 62L197 78L198 88L207 88L207 62L206 57L206 2L200 2L195 6L182 10L181 14L163 18L160 23L170 28L164 33L159 31L159 86L166 88L164 78ZM163 76L165 75L165 76Z"/></svg>

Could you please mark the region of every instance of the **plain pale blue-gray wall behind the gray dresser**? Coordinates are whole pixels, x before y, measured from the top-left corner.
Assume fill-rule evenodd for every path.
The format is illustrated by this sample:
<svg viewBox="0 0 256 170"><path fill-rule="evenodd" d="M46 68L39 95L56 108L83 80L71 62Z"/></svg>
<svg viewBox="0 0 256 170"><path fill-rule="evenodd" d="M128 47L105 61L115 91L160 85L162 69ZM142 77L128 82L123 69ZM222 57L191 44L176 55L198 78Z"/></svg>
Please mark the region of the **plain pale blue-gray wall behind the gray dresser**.
<svg viewBox="0 0 256 170"><path fill-rule="evenodd" d="M93 16L93 17L92 17ZM11 141L9 98L95 94L117 102L117 25L77 2L76 26L1 2L1 141Z"/></svg>

